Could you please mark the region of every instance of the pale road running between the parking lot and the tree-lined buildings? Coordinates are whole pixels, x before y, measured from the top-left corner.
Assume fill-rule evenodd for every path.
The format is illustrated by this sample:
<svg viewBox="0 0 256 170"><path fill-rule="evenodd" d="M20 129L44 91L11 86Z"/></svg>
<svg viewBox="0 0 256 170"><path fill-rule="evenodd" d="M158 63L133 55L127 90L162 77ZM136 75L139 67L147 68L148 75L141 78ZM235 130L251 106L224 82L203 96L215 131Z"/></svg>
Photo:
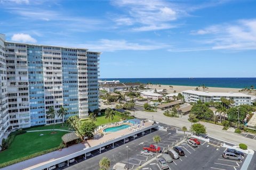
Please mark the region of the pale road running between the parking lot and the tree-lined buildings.
<svg viewBox="0 0 256 170"><path fill-rule="evenodd" d="M135 117L138 118L148 118L152 120L152 116L154 116L154 121L161 122L164 124L169 124L172 126L176 126L178 128L182 128L186 126L187 129L190 129L191 122L188 121L187 116L182 117L167 117L163 115L164 111L157 111L154 113L151 112L143 112L143 111L135 111ZM234 143L238 145L239 143L245 143L248 148L256 150L256 142L253 139L245 138L239 134L222 130L223 126L215 125L206 122L200 122L205 125L206 132L210 137L217 138L223 141L227 141L230 143Z"/></svg>

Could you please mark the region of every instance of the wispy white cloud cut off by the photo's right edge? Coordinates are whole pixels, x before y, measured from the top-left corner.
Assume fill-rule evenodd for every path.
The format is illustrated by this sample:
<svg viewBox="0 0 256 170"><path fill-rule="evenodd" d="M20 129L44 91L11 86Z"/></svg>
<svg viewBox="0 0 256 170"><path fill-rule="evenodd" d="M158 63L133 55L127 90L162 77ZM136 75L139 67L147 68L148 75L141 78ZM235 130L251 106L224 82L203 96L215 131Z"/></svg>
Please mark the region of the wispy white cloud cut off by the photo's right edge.
<svg viewBox="0 0 256 170"><path fill-rule="evenodd" d="M256 49L256 19L212 25L191 33L206 36L201 42L210 45L212 49Z"/></svg>

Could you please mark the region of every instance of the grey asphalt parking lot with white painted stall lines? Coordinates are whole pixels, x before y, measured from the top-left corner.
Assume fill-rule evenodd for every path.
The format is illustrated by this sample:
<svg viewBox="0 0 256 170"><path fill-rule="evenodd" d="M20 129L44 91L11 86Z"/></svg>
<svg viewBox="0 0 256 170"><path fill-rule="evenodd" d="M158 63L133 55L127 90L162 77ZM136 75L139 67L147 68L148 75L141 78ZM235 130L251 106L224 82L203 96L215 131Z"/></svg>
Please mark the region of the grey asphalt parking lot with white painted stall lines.
<svg viewBox="0 0 256 170"><path fill-rule="evenodd" d="M90 156L86 156L86 160L84 157L77 157L76 162L71 164L72 166L65 166L62 169L99 169L99 162L102 157L108 157L111 160L110 169L116 163L123 163L129 165L129 169L136 169L140 165L150 161L149 164L143 166L141 169L148 170L160 170L161 168L157 164L156 155L153 157L150 156L142 156L140 154L144 145L155 144L153 141L153 137L155 135L159 135L161 137L161 142L158 143L158 146L161 147L162 150L166 150L167 148L172 148L173 145L180 143L179 147L185 152L185 156L181 156L179 159L173 159L172 163L167 163L170 169L220 169L220 170L238 170L241 169L244 159L247 155L245 155L242 161L238 160L228 160L222 158L223 151L226 148L220 147L223 141L218 139L214 139L210 137L211 142L205 142L199 140L201 145L197 148L193 148L187 144L187 142L181 142L183 140L183 134L177 133L177 128L173 126L167 126L165 124L161 124L165 128L166 131L153 130L146 131L144 136L142 134L138 135L138 138L135 140L130 137L129 142L124 143L124 141L118 141L114 143L113 146L105 147L101 150L94 150L91 152ZM227 143L228 145L233 145L232 143ZM255 156L254 156L255 157ZM160 157L161 158L161 157ZM255 163L253 163L255 164ZM254 165L251 165L254 167Z"/></svg>

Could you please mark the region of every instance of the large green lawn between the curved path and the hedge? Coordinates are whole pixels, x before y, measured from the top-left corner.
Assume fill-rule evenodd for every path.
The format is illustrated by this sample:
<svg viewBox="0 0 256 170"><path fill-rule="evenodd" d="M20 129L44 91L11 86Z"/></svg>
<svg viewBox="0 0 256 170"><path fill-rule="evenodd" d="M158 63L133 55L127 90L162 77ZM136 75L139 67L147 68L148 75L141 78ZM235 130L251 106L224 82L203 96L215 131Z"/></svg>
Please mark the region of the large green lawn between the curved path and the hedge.
<svg viewBox="0 0 256 170"><path fill-rule="evenodd" d="M44 135L40 136L41 133ZM57 131L55 134L50 133L51 131L27 132L17 135L11 146L0 152L0 163L58 147L61 143L61 137L67 132Z"/></svg>

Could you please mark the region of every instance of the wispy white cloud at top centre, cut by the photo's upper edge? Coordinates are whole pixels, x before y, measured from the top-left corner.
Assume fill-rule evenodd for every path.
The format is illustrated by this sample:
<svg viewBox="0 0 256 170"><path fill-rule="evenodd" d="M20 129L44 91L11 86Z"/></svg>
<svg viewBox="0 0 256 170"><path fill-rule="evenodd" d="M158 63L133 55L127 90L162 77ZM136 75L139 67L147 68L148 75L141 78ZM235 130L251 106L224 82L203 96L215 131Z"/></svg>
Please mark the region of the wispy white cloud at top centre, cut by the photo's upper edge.
<svg viewBox="0 0 256 170"><path fill-rule="evenodd" d="M125 17L116 17L117 25L136 25L134 31L151 31L173 28L175 21L185 11L174 7L175 5L165 1L114 1L113 5L123 8Z"/></svg>

